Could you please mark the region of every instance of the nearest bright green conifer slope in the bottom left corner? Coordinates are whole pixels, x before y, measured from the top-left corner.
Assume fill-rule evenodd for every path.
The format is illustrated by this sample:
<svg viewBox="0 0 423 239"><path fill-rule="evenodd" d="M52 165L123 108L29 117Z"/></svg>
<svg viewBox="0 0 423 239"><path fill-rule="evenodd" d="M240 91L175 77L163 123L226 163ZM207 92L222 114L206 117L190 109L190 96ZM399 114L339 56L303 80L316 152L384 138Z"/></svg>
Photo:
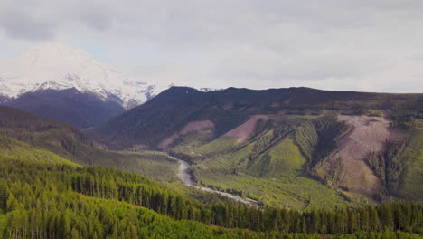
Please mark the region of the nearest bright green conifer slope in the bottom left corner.
<svg viewBox="0 0 423 239"><path fill-rule="evenodd" d="M194 221L176 221L142 207L41 186L35 186L35 190L14 187L12 193L24 201L0 216L0 238L177 239L228 238L233 234L221 229L217 235L209 226Z"/></svg>

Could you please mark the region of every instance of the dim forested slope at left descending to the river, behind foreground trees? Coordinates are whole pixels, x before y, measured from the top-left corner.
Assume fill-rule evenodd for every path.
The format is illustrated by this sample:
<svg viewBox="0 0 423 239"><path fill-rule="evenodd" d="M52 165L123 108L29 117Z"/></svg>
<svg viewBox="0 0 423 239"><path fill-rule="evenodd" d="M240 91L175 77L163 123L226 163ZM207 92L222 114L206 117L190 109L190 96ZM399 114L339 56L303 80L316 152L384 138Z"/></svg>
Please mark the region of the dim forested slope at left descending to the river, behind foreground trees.
<svg viewBox="0 0 423 239"><path fill-rule="evenodd" d="M0 139L2 137L51 151L80 165L118 167L162 182L177 180L177 165L164 153L108 151L87 139L79 129L24 110L0 106Z"/></svg>

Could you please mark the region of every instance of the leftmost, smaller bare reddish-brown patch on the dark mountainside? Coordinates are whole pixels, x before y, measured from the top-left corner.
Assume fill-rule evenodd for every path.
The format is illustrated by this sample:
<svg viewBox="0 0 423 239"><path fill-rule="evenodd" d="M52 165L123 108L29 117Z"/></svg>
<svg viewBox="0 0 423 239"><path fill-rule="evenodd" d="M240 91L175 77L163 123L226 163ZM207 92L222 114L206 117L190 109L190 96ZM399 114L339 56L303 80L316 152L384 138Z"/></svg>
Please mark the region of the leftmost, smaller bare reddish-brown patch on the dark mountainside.
<svg viewBox="0 0 423 239"><path fill-rule="evenodd" d="M174 133L173 135L163 139L158 148L168 148L174 142L174 139L178 139L183 135L192 132L199 132L199 133L211 133L211 130L214 129L214 123L211 120L202 120L202 121L192 121L186 124L183 129L179 130L178 132Z"/></svg>

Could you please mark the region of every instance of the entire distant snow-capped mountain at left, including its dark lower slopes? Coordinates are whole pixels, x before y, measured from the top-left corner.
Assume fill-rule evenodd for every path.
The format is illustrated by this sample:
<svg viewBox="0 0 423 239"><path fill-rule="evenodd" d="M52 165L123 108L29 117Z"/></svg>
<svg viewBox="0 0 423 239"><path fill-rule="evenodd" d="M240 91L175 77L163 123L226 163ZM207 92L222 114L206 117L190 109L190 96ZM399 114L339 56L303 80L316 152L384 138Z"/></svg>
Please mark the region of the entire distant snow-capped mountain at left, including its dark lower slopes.
<svg viewBox="0 0 423 239"><path fill-rule="evenodd" d="M167 87L128 78L60 43L44 43L0 62L0 104L79 128L105 123Z"/></svg>

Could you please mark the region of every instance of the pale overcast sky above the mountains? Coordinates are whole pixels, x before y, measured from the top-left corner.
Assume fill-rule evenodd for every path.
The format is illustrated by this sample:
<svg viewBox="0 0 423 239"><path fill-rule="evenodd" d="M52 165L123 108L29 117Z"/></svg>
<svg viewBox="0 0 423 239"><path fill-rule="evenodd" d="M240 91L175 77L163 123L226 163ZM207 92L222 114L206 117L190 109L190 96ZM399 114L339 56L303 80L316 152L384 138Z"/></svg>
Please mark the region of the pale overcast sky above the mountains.
<svg viewBox="0 0 423 239"><path fill-rule="evenodd" d="M59 42L140 81L423 92L421 0L0 0L0 57Z"/></svg>

